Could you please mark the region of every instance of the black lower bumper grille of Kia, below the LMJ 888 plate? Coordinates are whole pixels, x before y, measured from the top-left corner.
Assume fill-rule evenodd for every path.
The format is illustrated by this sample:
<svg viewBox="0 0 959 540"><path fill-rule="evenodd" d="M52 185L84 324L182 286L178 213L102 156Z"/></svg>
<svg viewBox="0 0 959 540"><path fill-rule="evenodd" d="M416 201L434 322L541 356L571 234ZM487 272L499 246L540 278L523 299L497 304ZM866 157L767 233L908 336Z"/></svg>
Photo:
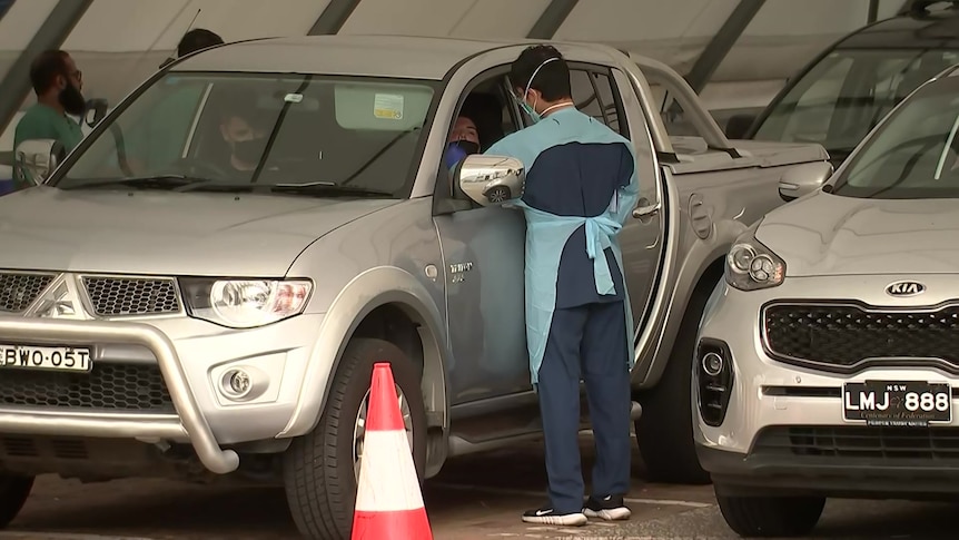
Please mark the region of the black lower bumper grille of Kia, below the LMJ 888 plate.
<svg viewBox="0 0 959 540"><path fill-rule="evenodd" d="M760 433L754 454L866 460L959 461L957 428L775 426ZM936 460L936 461L933 461Z"/></svg>

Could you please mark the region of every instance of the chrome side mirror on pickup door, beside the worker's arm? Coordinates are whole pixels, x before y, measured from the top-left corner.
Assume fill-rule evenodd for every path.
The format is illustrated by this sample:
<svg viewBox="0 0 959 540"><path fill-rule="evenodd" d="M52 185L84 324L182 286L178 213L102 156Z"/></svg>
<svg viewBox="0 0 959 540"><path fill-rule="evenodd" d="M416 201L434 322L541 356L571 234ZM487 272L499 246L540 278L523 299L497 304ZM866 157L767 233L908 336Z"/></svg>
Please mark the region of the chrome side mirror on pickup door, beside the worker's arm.
<svg viewBox="0 0 959 540"><path fill-rule="evenodd" d="M525 169L518 159L473 154L456 168L456 185L481 206L494 206L523 196Z"/></svg>

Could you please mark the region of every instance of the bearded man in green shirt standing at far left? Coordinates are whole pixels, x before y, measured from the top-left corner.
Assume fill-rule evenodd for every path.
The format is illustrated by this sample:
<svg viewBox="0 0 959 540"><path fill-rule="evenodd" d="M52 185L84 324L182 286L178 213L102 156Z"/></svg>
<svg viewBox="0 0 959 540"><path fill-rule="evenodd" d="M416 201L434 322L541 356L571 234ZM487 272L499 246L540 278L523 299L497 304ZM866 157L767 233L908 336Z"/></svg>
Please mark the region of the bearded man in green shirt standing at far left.
<svg viewBox="0 0 959 540"><path fill-rule="evenodd" d="M30 65L30 84L37 102L20 118L13 132L13 148L30 139L55 139L69 154L83 132L77 120L67 115L82 117L87 109L83 98L83 78L70 55L62 50L41 52ZM26 173L26 171L24 171ZM13 175L20 178L21 175ZM29 183L14 180L14 189L29 187Z"/></svg>

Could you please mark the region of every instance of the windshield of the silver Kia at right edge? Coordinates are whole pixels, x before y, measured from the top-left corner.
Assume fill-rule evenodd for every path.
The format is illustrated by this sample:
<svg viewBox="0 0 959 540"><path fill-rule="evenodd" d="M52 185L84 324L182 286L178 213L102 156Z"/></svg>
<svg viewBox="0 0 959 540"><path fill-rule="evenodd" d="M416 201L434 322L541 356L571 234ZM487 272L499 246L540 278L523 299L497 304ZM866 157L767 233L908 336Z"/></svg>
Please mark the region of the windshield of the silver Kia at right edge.
<svg viewBox="0 0 959 540"><path fill-rule="evenodd" d="M863 143L832 193L860 198L959 198L959 77L922 87Z"/></svg>

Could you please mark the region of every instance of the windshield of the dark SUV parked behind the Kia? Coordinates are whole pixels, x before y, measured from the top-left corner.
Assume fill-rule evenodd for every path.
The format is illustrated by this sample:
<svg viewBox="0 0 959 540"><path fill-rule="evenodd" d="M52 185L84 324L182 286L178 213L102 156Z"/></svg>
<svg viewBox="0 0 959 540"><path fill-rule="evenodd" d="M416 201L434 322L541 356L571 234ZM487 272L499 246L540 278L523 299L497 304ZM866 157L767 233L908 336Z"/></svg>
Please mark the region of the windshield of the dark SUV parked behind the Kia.
<svg viewBox="0 0 959 540"><path fill-rule="evenodd" d="M902 98L956 62L955 50L836 49L771 108L753 138L818 143L842 160Z"/></svg>

